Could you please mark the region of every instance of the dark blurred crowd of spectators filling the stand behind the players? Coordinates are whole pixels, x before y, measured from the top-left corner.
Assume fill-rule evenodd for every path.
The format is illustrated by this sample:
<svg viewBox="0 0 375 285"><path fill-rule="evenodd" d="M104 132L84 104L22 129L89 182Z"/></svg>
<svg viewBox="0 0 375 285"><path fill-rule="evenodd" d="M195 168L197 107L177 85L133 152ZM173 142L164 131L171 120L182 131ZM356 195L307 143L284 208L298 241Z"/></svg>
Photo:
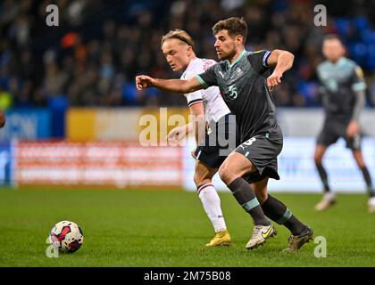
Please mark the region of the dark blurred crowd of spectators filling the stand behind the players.
<svg viewBox="0 0 375 285"><path fill-rule="evenodd" d="M46 6L59 7L59 26L46 26ZM313 25L313 7L325 4L326 27ZM321 40L337 33L358 62L375 104L374 0L4 0L0 3L0 104L46 106L63 97L71 106L184 106L183 96L137 92L137 73L171 73L159 49L171 29L196 38L196 52L217 59L212 24L230 16L248 25L246 49L275 46L296 55L294 68L273 92L281 106L319 106L316 66Z"/></svg>

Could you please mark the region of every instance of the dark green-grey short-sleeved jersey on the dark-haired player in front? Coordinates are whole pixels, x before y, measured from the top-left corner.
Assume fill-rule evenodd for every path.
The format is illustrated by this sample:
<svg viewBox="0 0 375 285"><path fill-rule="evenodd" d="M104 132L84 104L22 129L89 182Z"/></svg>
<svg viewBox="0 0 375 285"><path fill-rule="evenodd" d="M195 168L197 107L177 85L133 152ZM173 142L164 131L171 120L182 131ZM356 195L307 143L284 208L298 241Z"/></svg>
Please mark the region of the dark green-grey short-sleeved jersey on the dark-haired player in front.
<svg viewBox="0 0 375 285"><path fill-rule="evenodd" d="M221 96L236 115L241 142L257 134L281 136L275 104L267 87L270 75L270 51L250 53L244 50L235 62L221 61L196 76L208 88L219 86Z"/></svg>

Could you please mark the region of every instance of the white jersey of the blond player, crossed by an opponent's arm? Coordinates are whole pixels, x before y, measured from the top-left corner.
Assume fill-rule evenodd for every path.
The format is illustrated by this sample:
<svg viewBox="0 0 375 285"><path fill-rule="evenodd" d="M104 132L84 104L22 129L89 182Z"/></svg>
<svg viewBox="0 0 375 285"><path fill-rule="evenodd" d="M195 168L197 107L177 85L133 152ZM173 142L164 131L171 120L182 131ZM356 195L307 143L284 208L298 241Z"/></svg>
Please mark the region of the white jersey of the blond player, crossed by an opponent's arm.
<svg viewBox="0 0 375 285"><path fill-rule="evenodd" d="M203 73L214 64L216 64L216 61L196 58L190 61L187 69L182 74L181 79L196 77L196 75ZM197 90L184 95L187 98L187 105L189 107L197 102L204 103L204 114L207 122L210 122L211 120L217 122L221 117L230 113L227 104L221 97L219 87L217 86L211 86L205 90Z"/></svg>

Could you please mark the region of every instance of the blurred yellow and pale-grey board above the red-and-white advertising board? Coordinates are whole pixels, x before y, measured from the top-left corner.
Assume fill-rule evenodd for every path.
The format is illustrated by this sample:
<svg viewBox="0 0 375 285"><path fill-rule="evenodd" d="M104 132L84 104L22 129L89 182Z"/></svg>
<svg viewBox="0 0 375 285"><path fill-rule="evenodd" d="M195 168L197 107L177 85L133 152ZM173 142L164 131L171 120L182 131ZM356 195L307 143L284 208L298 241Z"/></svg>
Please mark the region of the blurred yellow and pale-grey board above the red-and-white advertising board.
<svg viewBox="0 0 375 285"><path fill-rule="evenodd" d="M145 128L154 128L161 135L161 126L165 126L167 134L178 123L173 120L176 114L187 121L186 108L71 108L66 115L66 135L72 142L137 141ZM150 117L156 123L143 125Z"/></svg>

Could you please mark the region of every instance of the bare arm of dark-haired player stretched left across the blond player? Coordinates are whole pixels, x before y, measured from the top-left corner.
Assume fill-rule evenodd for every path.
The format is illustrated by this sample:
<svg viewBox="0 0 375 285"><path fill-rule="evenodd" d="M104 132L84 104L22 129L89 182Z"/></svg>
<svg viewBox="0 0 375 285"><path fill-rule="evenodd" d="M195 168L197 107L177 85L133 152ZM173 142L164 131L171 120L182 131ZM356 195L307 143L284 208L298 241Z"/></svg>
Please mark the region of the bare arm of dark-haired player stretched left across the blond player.
<svg viewBox="0 0 375 285"><path fill-rule="evenodd" d="M149 87L155 87L162 91L172 92L172 93L192 93L196 90L203 89L204 86L201 85L196 79L192 77L187 80L182 79L158 79L153 77L148 77L146 75L140 75L136 77L137 90L143 90Z"/></svg>

